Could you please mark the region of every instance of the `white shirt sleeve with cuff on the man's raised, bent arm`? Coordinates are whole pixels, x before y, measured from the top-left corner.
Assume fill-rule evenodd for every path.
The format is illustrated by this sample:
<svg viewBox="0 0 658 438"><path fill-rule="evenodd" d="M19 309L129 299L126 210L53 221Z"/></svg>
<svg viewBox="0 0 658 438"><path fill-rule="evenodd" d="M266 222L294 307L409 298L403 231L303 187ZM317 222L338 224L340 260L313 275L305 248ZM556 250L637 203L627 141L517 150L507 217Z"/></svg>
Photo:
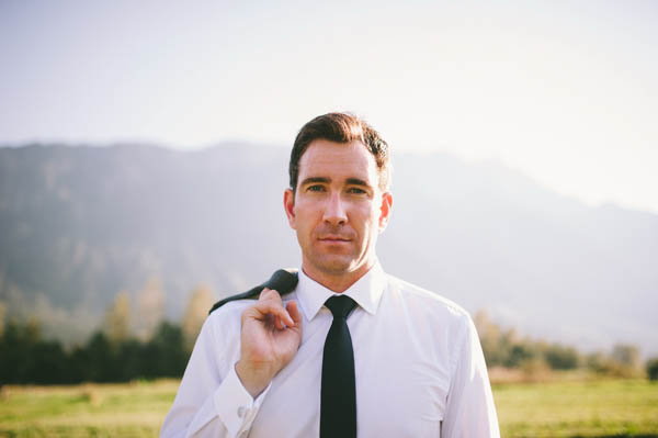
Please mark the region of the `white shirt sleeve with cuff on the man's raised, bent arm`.
<svg viewBox="0 0 658 438"><path fill-rule="evenodd" d="M196 339L161 438L247 436L269 392L270 386L254 400L236 374L235 363L219 366L230 355L214 336L211 319ZM227 370L224 377L223 369Z"/></svg>

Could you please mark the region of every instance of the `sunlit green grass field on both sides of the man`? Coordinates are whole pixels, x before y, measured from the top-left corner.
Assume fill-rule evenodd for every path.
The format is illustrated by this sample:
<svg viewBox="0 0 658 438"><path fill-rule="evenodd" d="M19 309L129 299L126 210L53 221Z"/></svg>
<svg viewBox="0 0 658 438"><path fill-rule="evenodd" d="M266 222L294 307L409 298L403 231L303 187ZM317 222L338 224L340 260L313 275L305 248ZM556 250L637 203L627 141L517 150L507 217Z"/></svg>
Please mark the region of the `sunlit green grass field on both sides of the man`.
<svg viewBox="0 0 658 438"><path fill-rule="evenodd" d="M156 437L178 381L5 386L0 437ZM658 384L642 380L494 386L503 437L658 437Z"/></svg>

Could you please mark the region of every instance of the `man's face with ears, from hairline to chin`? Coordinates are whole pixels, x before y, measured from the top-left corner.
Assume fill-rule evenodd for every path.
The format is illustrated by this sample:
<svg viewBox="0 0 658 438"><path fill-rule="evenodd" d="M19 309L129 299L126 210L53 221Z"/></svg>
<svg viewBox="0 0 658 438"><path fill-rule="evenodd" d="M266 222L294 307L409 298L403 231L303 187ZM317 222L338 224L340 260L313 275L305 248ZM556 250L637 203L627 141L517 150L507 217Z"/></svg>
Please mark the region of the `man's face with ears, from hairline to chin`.
<svg viewBox="0 0 658 438"><path fill-rule="evenodd" d="M378 183L375 158L361 142L316 139L307 147L296 191L284 198L307 274L358 279L374 265L377 234L393 204Z"/></svg>

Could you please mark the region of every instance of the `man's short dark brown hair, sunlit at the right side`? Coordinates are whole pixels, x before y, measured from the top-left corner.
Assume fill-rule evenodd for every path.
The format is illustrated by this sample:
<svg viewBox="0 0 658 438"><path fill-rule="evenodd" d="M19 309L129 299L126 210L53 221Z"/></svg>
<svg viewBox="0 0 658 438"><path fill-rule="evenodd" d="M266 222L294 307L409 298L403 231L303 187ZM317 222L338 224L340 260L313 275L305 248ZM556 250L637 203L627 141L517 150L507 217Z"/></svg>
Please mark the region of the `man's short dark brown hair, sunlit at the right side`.
<svg viewBox="0 0 658 438"><path fill-rule="evenodd" d="M297 189L299 159L308 145L316 139L327 139L336 143L350 143L354 141L363 143L373 157L375 157L379 172L379 188L383 191L388 189L390 182L388 144L379 136L378 132L355 115L350 113L328 113L318 115L302 126L295 138L288 167L291 189L293 191Z"/></svg>

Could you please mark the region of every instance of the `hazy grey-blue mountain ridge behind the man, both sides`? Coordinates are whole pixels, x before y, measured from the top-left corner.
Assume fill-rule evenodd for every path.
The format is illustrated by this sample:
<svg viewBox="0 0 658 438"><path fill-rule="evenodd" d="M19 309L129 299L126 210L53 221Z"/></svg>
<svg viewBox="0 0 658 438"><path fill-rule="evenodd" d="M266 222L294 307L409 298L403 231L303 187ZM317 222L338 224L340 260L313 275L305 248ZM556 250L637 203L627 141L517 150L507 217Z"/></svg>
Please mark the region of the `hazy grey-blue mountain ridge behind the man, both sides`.
<svg viewBox="0 0 658 438"><path fill-rule="evenodd" d="M282 211L288 153L237 142L0 148L8 314L41 308L82 329L116 292L158 278L178 317L198 283L224 296L297 266ZM394 159L387 271L523 334L658 352L658 215L590 207L492 161Z"/></svg>

